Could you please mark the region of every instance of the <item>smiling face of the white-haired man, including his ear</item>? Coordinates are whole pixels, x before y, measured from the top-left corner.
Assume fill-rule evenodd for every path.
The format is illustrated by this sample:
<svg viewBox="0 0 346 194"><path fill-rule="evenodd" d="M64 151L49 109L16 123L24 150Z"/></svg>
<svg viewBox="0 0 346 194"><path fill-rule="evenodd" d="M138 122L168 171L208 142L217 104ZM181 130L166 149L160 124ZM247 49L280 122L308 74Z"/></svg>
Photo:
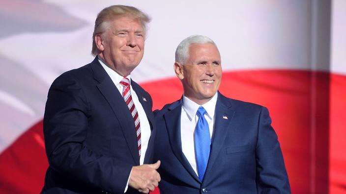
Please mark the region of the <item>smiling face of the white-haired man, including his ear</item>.
<svg viewBox="0 0 346 194"><path fill-rule="evenodd" d="M192 44L185 64L174 64L184 95L202 105L217 92L222 77L221 57L213 44Z"/></svg>

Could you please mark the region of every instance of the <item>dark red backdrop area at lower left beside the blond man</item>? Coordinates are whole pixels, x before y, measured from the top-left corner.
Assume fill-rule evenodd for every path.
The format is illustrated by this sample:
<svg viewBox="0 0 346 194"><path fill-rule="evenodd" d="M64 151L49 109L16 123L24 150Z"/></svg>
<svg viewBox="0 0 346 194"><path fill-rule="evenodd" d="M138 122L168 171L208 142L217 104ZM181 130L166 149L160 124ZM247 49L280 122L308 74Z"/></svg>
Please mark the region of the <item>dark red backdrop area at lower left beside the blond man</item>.
<svg viewBox="0 0 346 194"><path fill-rule="evenodd" d="M38 122L0 155L0 194L38 194L48 161Z"/></svg>

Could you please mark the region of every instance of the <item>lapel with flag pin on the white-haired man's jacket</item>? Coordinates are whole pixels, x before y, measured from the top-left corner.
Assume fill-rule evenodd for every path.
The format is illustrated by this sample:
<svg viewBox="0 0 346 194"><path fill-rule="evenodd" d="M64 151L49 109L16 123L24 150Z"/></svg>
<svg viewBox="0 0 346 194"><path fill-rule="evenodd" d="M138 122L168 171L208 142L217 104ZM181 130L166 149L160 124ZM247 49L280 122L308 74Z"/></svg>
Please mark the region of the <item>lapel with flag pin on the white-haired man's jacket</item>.
<svg viewBox="0 0 346 194"><path fill-rule="evenodd" d="M218 93L218 99L215 107L214 134L212 137L208 165L203 181L208 181L208 177L210 177L208 174L212 173L213 165L216 162L221 147L224 145L227 133L231 130L231 121L235 112L230 108L231 102L229 99Z"/></svg>

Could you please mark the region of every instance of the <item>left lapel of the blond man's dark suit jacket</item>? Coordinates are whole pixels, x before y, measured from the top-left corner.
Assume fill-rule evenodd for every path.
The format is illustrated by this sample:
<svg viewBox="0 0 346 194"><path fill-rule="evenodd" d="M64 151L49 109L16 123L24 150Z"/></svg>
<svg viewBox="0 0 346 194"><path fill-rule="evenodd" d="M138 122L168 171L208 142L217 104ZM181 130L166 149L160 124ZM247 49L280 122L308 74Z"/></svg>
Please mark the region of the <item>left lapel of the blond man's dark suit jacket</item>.
<svg viewBox="0 0 346 194"><path fill-rule="evenodd" d="M140 159L138 154L135 123L133 122L132 115L128 111L128 107L123 97L115 87L112 79L98 62L97 57L92 62L91 68L94 73L94 78L99 82L97 88L106 98L117 120L119 121L133 160L136 166L138 166L140 165Z"/></svg>

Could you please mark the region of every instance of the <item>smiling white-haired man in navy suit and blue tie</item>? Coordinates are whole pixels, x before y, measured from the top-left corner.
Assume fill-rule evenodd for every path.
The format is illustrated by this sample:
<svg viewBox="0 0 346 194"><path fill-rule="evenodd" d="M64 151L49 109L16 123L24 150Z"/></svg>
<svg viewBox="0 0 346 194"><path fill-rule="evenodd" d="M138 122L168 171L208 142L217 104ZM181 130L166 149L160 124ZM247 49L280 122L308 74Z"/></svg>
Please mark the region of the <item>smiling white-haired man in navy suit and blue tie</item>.
<svg viewBox="0 0 346 194"><path fill-rule="evenodd" d="M289 194L268 110L218 92L222 67L215 43L201 35L184 39L174 72L184 95L154 113L161 194Z"/></svg>

